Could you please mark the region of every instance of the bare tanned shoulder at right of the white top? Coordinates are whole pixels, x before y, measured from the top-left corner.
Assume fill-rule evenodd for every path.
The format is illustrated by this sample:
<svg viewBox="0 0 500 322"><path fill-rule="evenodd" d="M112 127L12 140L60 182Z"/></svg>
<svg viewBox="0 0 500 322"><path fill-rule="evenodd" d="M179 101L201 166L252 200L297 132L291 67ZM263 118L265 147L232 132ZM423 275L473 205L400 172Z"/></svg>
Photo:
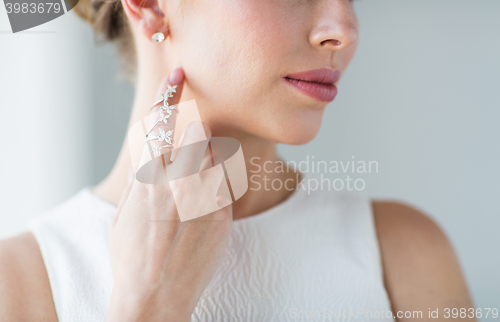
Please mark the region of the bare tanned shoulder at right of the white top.
<svg viewBox="0 0 500 322"><path fill-rule="evenodd" d="M385 285L394 312L472 308L453 247L439 225L398 201L372 201ZM443 318L442 315L439 316Z"/></svg>

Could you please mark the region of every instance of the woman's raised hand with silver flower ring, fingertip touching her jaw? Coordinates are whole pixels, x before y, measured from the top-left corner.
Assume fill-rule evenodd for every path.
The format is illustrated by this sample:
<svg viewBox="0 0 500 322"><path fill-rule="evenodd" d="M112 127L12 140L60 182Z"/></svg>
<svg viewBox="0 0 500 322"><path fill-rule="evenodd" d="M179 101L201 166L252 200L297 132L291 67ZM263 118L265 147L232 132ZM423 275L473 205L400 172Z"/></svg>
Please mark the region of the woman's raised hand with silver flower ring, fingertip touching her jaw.
<svg viewBox="0 0 500 322"><path fill-rule="evenodd" d="M174 105L181 96L184 74L182 69L174 69L171 75L174 81L166 78L159 93L167 84L176 84L177 92L168 100ZM155 108L152 112L157 111ZM165 131L173 129L174 114L167 125L163 124ZM189 129L181 145L195 135ZM205 125L204 130L209 138L210 130ZM189 156L181 152L173 162L192 166ZM210 155L203 161L205 168L210 167ZM162 162L157 163L153 172L163 175ZM132 171L109 228L114 288L108 321L190 321L213 278L232 229L232 207L181 222L172 193L168 184L135 180ZM176 191L176 198L179 194L182 197Z"/></svg>

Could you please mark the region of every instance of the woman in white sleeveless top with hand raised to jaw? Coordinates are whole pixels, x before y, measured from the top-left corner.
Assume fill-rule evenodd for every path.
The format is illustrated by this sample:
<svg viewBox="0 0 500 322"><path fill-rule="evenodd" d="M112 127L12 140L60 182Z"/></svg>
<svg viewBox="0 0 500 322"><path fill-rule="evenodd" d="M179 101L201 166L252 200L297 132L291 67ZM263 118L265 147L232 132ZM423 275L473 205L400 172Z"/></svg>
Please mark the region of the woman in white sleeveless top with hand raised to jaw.
<svg viewBox="0 0 500 322"><path fill-rule="evenodd" d="M276 143L315 137L358 41L348 0L87 0L75 10L119 46L136 85L130 125L176 85L170 104L196 99L206 134L237 139L254 174L264 169L251 159L280 160ZM411 320L473 308L442 230L408 205L249 189L180 222L167 186L127 180L130 168L124 143L105 180L1 242L2 321ZM294 171L265 175L300 185Z"/></svg>

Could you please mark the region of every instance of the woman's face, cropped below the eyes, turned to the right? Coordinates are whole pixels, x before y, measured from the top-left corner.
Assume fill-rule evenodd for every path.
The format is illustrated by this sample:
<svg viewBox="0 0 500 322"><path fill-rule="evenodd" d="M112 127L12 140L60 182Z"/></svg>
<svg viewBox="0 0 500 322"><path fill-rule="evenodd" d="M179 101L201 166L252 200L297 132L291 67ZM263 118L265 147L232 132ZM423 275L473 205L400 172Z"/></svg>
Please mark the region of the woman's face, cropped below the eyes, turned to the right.
<svg viewBox="0 0 500 322"><path fill-rule="evenodd" d="M170 28L166 60L184 68L183 100L196 99L214 136L243 131L286 144L316 136L335 88L285 76L345 71L358 38L352 0L166 0L164 5ZM310 88L315 97L298 87Z"/></svg>

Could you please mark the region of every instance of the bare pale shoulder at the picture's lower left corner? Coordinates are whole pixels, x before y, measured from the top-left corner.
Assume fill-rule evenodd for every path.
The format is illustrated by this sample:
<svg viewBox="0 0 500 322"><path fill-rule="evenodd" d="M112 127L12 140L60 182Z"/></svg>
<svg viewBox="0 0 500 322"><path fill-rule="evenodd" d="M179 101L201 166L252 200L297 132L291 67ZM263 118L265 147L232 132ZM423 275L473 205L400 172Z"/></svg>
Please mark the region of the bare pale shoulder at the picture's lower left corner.
<svg viewBox="0 0 500 322"><path fill-rule="evenodd" d="M31 232L0 241L2 321L57 321L42 255Z"/></svg>

